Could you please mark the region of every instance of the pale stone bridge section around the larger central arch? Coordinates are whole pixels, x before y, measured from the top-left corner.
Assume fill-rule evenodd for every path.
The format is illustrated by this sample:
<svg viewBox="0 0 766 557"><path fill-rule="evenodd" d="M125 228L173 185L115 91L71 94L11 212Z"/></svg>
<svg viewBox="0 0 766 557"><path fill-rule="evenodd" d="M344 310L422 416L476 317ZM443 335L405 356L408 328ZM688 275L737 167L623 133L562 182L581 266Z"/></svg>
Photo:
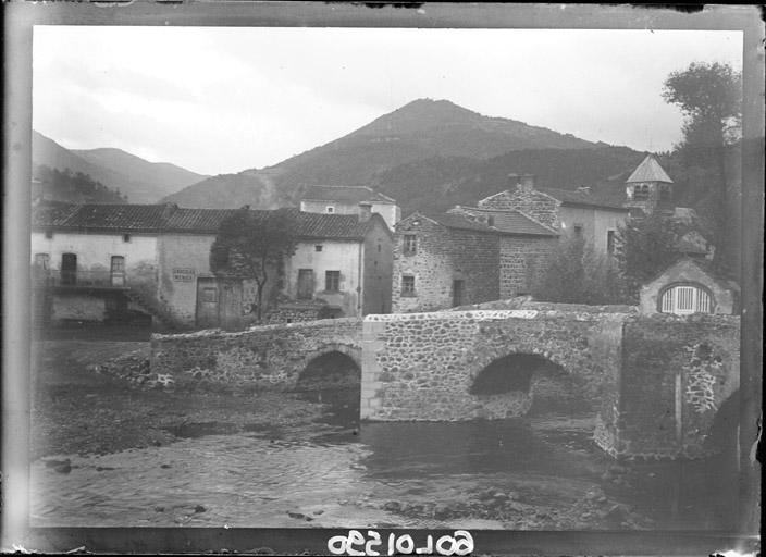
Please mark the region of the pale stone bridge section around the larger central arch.
<svg viewBox="0 0 766 557"><path fill-rule="evenodd" d="M370 420L466 420L526 413L530 393L470 393L479 373L512 354L539 355L576 377L598 407L614 392L620 314L534 310L370 315L365 321L361 417Z"/></svg>

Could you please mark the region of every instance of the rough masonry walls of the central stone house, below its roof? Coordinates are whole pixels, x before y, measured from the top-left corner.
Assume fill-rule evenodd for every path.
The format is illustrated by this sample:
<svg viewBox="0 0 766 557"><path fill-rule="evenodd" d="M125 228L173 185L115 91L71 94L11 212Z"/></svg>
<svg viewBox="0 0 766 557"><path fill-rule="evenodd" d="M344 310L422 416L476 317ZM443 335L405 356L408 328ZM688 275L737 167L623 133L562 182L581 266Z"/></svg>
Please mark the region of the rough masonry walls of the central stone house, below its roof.
<svg viewBox="0 0 766 557"><path fill-rule="evenodd" d="M405 235L417 251L404 252ZM453 230L425 218L408 218L394 235L392 310L435 311L453 306L453 284L464 281L462 304L499 297L499 238L496 234ZM415 276L415 294L401 292L401 277Z"/></svg>

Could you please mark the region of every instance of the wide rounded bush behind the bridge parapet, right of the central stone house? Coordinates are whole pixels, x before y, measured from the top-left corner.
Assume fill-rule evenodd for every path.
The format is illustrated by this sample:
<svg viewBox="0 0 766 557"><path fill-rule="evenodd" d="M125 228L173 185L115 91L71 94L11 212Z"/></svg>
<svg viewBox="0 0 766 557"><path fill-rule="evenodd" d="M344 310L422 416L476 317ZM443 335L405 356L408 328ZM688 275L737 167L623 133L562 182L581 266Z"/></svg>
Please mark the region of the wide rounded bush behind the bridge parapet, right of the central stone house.
<svg viewBox="0 0 766 557"><path fill-rule="evenodd" d="M620 273L608 257L596 253L582 238L563 240L533 283L532 296L559 304L622 304L626 301Z"/></svg>

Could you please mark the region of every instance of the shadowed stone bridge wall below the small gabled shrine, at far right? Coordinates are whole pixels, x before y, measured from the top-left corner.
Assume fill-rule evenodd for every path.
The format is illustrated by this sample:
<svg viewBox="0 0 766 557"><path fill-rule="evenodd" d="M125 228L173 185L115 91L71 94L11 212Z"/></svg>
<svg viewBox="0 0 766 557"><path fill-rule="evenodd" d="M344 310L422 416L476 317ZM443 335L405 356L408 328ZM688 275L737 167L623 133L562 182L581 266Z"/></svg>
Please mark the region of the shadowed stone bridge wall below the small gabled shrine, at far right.
<svg viewBox="0 0 766 557"><path fill-rule="evenodd" d="M739 389L739 319L631 318L619 400L597 443L613 456L699 456L720 405Z"/></svg>

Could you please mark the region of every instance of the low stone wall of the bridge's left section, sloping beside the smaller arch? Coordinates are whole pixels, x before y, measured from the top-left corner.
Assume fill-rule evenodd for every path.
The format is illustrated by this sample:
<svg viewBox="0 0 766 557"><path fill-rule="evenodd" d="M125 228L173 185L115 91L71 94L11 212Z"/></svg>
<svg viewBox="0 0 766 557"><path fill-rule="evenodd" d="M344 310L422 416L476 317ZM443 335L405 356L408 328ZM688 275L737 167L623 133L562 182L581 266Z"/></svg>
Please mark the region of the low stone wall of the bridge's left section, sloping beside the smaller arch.
<svg viewBox="0 0 766 557"><path fill-rule="evenodd" d="M360 363L360 320L263 325L237 333L152 335L151 372L172 377L176 388L208 384L291 389L313 358L331 351Z"/></svg>

